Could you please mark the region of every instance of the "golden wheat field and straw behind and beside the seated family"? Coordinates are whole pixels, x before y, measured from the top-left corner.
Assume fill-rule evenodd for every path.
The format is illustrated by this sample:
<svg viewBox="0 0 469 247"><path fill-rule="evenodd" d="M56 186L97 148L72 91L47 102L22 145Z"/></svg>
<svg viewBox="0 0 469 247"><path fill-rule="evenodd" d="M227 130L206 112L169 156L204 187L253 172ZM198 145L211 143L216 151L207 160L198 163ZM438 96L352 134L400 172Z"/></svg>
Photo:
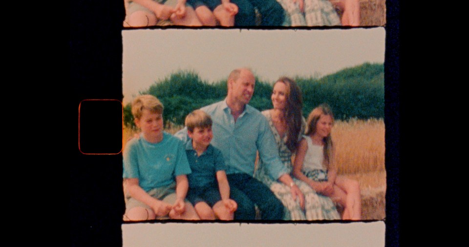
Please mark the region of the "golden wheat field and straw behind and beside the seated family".
<svg viewBox="0 0 469 247"><path fill-rule="evenodd" d="M165 131L174 134L181 128L171 125ZM382 119L336 121L332 128L338 173L360 183L363 220L385 218L384 130ZM123 144L135 133L124 128Z"/></svg>

